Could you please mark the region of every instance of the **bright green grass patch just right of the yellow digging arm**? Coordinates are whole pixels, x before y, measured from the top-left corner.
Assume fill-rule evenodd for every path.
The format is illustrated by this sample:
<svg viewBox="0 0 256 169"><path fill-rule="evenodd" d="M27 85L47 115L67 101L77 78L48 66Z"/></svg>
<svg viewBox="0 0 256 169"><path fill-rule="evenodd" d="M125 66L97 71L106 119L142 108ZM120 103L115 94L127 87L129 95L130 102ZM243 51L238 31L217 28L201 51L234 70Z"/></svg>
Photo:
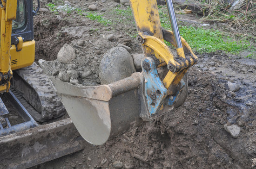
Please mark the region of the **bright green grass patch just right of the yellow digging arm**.
<svg viewBox="0 0 256 169"><path fill-rule="evenodd" d="M159 15L162 27L171 30L168 14L159 9ZM223 50L238 54L242 50L255 51L246 38L236 41L218 30L182 25L179 25L179 30L180 35L189 43L190 47L199 53Z"/></svg>

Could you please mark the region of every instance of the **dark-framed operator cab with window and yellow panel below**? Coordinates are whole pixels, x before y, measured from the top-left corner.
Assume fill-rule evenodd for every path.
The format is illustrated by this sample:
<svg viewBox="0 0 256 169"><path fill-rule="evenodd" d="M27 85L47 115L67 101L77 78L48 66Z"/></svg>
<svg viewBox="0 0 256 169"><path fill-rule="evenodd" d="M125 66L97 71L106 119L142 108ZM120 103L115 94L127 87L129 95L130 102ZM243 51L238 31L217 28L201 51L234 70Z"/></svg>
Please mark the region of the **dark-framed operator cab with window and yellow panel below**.
<svg viewBox="0 0 256 169"><path fill-rule="evenodd" d="M39 3L39 2L38 2ZM35 42L33 0L17 0L16 19L12 23L11 69L20 69L34 62Z"/></svg>

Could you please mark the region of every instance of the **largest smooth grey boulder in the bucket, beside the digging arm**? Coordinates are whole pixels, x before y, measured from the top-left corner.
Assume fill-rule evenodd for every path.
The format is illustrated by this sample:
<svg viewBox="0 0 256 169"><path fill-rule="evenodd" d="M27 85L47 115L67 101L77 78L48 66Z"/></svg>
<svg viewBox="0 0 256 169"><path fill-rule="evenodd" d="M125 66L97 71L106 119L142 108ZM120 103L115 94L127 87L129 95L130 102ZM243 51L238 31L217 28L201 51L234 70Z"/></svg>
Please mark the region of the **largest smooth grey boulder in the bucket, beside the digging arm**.
<svg viewBox="0 0 256 169"><path fill-rule="evenodd" d="M136 70L130 53L122 47L115 47L102 57L99 78L101 84L109 84L129 77L134 72Z"/></svg>

